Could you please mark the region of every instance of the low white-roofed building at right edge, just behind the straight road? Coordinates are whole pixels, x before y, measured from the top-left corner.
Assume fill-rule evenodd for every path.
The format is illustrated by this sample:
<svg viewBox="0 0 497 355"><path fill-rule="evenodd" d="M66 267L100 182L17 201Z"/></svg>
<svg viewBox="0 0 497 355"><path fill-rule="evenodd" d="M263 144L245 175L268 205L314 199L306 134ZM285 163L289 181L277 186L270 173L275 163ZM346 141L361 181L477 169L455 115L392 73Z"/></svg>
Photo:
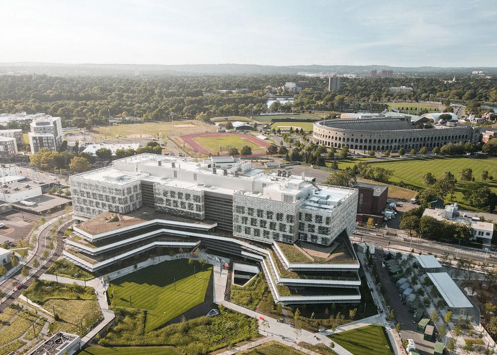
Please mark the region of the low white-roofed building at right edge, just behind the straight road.
<svg viewBox="0 0 497 355"><path fill-rule="evenodd" d="M493 237L493 223L482 222L478 217L469 217L464 211L461 216L457 202L451 205L446 205L445 209L427 208L423 212L423 216L433 217L438 221L449 221L452 223L464 223L473 229L473 237L470 240L482 244L482 247L489 247Z"/></svg>

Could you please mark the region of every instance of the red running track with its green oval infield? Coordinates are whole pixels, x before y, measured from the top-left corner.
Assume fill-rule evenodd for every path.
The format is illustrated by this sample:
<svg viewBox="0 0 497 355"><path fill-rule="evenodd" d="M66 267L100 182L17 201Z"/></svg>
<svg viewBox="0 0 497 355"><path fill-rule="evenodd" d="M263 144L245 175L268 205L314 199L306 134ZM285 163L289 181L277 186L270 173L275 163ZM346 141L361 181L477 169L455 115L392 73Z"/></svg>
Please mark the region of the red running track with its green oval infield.
<svg viewBox="0 0 497 355"><path fill-rule="evenodd" d="M266 155L271 144L246 133L201 133L181 137L185 143L201 154L228 154L231 148L241 151L243 146L252 148L251 156Z"/></svg>

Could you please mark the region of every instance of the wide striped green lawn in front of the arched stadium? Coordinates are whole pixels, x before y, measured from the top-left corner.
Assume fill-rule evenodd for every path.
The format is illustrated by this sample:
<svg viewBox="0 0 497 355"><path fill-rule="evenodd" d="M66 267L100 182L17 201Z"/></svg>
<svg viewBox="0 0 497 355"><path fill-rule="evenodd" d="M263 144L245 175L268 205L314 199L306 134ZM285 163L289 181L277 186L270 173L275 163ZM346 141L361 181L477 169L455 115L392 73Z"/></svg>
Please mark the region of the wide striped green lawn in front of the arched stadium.
<svg viewBox="0 0 497 355"><path fill-rule="evenodd" d="M463 168L471 168L475 182L481 185L486 185L492 191L497 192L497 181L483 181L481 179L482 170L488 170L488 174L497 179L497 158L471 158L471 157L446 157L439 156L435 158L420 158L420 159L399 159L399 161L388 161L380 163L371 163L371 166L383 167L392 169L394 174L390 177L391 182L403 181L406 185L426 188L423 185L423 175L430 171L437 177L442 175L444 171L450 171L457 179L456 192L454 196L458 202L465 202L463 191L466 182L461 182L459 178L459 170Z"/></svg>

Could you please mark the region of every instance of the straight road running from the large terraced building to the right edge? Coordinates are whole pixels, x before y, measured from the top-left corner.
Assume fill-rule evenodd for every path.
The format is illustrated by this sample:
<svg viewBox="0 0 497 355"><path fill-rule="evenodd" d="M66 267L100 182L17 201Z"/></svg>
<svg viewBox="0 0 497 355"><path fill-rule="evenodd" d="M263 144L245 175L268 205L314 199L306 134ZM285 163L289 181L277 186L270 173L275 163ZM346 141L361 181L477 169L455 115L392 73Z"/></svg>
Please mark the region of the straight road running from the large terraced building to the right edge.
<svg viewBox="0 0 497 355"><path fill-rule="evenodd" d="M360 242L362 240L366 241L368 244L374 244L383 248L388 247L388 245L400 245L408 248L414 248L415 251L430 252L437 256L441 256L443 253L448 253L449 256L457 255L458 258L465 257L479 263L487 261L490 265L497 264L497 261L493 258L489 258L487 256L487 258L485 259L484 252L472 250L465 247L457 247L457 245L441 243L434 240L413 238L411 244L410 239L404 241L404 239L402 238L389 235L381 237L371 234L352 234L350 238L352 239L352 241L355 242ZM388 242L390 242L390 244L388 244Z"/></svg>

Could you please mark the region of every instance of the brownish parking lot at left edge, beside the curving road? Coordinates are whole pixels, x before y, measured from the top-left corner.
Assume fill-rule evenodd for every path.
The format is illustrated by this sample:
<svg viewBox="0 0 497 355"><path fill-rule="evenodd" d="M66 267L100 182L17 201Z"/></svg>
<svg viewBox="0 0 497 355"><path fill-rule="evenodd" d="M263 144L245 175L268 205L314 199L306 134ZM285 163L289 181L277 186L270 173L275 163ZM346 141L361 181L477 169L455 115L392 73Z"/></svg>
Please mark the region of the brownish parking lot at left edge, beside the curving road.
<svg viewBox="0 0 497 355"><path fill-rule="evenodd" d="M24 217L24 219L23 219ZM0 228L0 244L6 241L16 241L25 239L34 226L34 222L40 220L40 216L28 214L26 212L7 212L0 215L0 223L4 226Z"/></svg>

